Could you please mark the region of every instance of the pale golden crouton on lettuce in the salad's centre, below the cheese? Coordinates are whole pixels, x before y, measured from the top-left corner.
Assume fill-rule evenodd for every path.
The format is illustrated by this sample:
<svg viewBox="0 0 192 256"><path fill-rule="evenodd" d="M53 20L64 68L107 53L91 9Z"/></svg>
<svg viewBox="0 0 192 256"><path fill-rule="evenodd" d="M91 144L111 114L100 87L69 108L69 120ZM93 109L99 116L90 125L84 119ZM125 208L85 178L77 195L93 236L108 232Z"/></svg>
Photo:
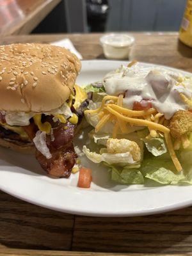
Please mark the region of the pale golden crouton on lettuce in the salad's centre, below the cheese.
<svg viewBox="0 0 192 256"><path fill-rule="evenodd" d="M125 153L130 152L134 161L141 160L141 149L135 141L127 139L108 139L107 141L108 153Z"/></svg>

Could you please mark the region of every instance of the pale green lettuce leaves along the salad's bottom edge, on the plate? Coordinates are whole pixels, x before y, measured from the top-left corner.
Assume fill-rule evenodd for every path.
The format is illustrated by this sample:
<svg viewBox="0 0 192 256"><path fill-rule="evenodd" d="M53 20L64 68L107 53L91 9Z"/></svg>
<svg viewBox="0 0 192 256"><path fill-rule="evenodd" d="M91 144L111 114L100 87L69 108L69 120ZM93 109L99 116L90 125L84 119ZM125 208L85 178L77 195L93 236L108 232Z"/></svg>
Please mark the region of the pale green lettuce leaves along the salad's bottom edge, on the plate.
<svg viewBox="0 0 192 256"><path fill-rule="evenodd" d="M122 167L106 163L104 165L108 166L110 179L120 184L144 184L147 179L162 185L192 184L192 168L177 172L168 154L145 159L141 167L140 164Z"/></svg>

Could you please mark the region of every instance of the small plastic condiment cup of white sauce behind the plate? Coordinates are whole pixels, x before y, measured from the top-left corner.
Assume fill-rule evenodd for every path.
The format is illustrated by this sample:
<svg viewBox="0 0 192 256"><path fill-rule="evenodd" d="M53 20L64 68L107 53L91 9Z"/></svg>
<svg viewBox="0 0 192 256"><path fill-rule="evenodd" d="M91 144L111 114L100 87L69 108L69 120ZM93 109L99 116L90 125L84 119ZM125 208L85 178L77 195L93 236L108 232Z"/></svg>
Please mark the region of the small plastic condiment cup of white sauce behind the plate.
<svg viewBox="0 0 192 256"><path fill-rule="evenodd" d="M129 58L132 45L134 45L134 37L127 34L109 34L100 38L104 55L108 59L121 59Z"/></svg>

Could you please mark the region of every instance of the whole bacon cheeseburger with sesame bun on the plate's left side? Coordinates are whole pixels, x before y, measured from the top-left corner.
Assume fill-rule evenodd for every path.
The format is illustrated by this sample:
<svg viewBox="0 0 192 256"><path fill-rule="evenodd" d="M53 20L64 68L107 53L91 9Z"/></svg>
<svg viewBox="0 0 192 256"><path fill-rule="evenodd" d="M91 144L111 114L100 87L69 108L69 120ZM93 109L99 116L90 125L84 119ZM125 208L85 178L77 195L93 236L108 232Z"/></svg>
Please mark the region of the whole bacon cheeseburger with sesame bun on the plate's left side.
<svg viewBox="0 0 192 256"><path fill-rule="evenodd" d="M86 93L75 85L81 63L46 44L0 46L0 145L36 151L42 168L68 177L76 163L72 140Z"/></svg>

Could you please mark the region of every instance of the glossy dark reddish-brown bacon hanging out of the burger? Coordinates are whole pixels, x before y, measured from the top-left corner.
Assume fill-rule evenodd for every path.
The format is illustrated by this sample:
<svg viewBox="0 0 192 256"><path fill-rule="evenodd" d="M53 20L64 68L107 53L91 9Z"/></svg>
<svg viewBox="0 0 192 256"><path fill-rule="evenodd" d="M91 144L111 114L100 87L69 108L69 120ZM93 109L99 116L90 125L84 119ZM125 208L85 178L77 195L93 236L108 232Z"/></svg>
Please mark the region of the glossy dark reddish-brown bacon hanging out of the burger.
<svg viewBox="0 0 192 256"><path fill-rule="evenodd" d="M36 150L35 156L42 168L49 175L54 177L69 177L77 158L74 145L72 144L76 125L70 124L69 122L67 124L58 123L57 125L58 127L53 129L54 141L51 141L50 135L46 136L47 147L52 154L51 159L47 159L38 150ZM31 123L24 129L28 133L29 138L33 140L36 133L36 125Z"/></svg>

